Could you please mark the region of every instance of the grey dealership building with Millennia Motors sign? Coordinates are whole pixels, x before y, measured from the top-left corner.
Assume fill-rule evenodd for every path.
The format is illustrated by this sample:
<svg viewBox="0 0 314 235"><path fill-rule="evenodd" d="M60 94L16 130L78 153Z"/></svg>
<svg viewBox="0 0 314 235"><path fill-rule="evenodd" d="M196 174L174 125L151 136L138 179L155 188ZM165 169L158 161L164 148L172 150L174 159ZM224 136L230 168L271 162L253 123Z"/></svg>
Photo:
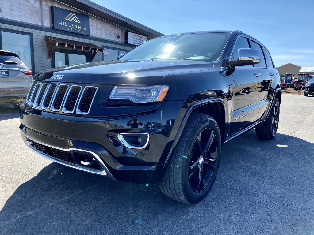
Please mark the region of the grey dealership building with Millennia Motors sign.
<svg viewBox="0 0 314 235"><path fill-rule="evenodd" d="M33 74L116 60L163 35L88 0L4 1L0 6L0 50L18 53Z"/></svg>

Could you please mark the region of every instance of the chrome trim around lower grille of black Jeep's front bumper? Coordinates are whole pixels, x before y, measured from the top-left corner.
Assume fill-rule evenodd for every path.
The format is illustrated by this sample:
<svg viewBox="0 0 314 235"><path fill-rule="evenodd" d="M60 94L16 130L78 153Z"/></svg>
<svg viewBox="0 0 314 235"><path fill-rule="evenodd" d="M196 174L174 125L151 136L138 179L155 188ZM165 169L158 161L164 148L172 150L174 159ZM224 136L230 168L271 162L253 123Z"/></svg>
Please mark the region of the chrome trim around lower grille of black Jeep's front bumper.
<svg viewBox="0 0 314 235"><path fill-rule="evenodd" d="M52 145L49 145L49 144L45 144L45 143L42 143L38 140L35 140L35 139L32 139L30 137L28 137L23 131L20 130L21 133L23 133L25 135L26 138L30 139L30 140L33 140L39 144L42 144L42 145L45 145L47 147L50 147L50 148L54 148L54 149L59 149L59 150L63 150L63 151L71 151L71 150L76 150L76 151L80 151L80 152L86 152L86 153L90 153L92 154L96 161L99 163L99 165L104 169L104 170L97 170L97 169L92 169L92 168L89 168L89 167L84 167L84 166L79 166L79 165L74 165L74 164L71 164L71 163L68 163L68 162L65 162L65 161L62 161L62 160L59 160L59 159L56 159L56 158L53 158L51 156L49 156L48 154L44 154L42 153L41 151L38 151L37 149L35 149L35 147L33 147L31 145L31 142L29 140L27 140L26 142L28 142L29 144L27 144L27 146L33 150L35 153L51 160L51 161L54 161L54 162L57 162L57 163L60 163L62 165L65 165L65 166L68 166L68 167L71 167L71 168L74 168L74 169L77 169L77 170L83 170L83 171L86 171L86 172L89 172L89 173L93 173L93 174L96 174L96 175L103 175L103 176L107 176L109 178L111 178L112 180L116 180L113 175L111 175L110 171L108 170L108 168L106 167L106 165L104 164L104 162L101 160L101 158L95 154L94 152L92 151L89 151L89 150L84 150L84 149L76 149L76 148L70 148L70 149L62 149L62 148L59 148L59 147L56 147L56 146L52 146Z"/></svg>

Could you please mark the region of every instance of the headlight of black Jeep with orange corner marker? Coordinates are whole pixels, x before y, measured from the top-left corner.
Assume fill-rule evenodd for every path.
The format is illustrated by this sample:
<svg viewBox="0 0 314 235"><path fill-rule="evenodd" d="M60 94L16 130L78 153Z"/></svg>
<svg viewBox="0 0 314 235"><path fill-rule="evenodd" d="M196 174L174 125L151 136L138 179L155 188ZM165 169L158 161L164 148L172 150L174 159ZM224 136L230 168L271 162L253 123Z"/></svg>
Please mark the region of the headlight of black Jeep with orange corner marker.
<svg viewBox="0 0 314 235"><path fill-rule="evenodd" d="M134 103L161 102L169 86L115 86L109 99L130 100Z"/></svg>

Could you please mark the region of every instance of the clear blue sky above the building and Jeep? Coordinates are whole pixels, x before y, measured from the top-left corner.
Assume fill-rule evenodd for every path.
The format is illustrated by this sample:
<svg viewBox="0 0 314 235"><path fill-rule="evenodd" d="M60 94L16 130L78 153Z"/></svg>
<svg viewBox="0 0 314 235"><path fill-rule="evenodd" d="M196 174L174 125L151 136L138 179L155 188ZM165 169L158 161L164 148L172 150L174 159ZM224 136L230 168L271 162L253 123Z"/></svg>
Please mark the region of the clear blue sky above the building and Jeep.
<svg viewBox="0 0 314 235"><path fill-rule="evenodd" d="M314 1L92 0L163 34L241 30L266 45L278 67L314 66Z"/></svg>

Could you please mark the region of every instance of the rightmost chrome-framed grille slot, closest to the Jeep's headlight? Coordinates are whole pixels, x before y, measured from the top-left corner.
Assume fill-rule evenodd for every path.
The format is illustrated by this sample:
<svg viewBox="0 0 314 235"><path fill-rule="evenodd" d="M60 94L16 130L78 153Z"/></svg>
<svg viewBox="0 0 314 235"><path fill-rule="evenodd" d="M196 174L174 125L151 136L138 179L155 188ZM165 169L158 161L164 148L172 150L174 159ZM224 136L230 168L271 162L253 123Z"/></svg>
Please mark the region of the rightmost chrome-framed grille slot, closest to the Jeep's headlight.
<svg viewBox="0 0 314 235"><path fill-rule="evenodd" d="M81 97L79 98L78 106L76 108L77 114L86 115L90 111L90 107L93 104L98 87L96 86L85 86Z"/></svg>

